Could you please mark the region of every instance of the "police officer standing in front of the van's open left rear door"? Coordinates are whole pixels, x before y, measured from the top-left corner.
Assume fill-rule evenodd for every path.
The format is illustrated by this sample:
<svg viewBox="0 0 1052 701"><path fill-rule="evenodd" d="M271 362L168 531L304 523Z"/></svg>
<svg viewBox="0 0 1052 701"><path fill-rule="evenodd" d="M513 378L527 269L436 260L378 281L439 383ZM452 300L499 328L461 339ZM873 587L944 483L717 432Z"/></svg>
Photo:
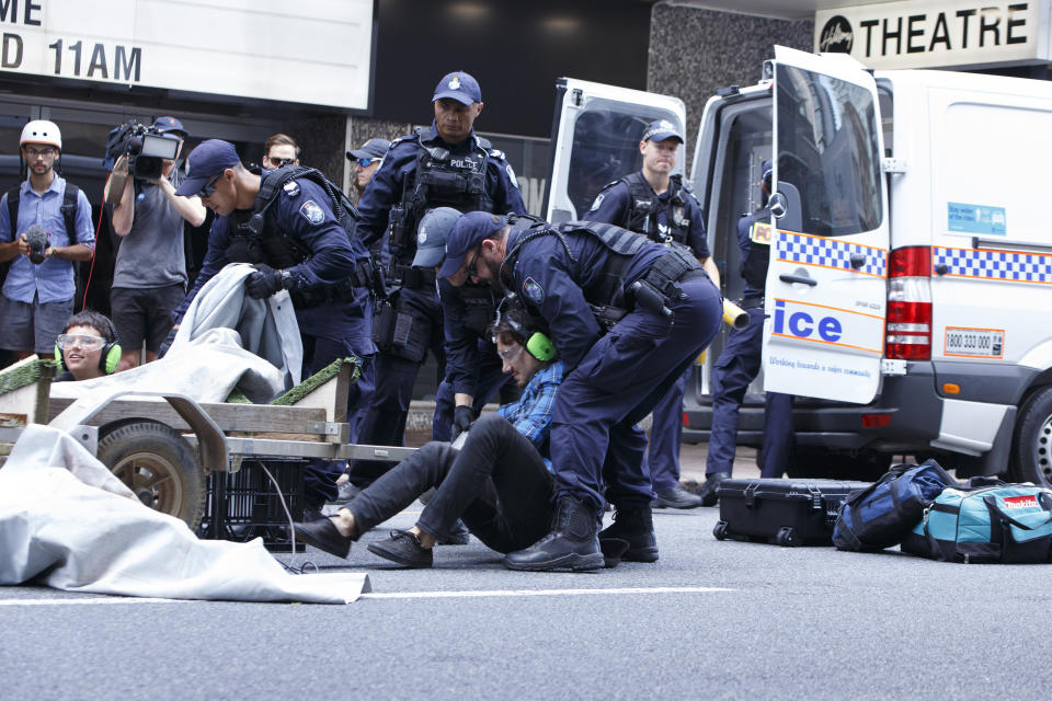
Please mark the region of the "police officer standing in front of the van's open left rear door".
<svg viewBox="0 0 1052 701"><path fill-rule="evenodd" d="M720 286L720 273L709 255L701 206L683 184L676 166L683 137L667 119L651 122L643 131L639 151L643 166L603 188L584 216L644 233L659 243L689 246L712 283ZM683 394L689 370L676 380L653 411L649 463L654 483L654 504L670 508L701 506L701 497L679 484L679 443L683 435Z"/></svg>

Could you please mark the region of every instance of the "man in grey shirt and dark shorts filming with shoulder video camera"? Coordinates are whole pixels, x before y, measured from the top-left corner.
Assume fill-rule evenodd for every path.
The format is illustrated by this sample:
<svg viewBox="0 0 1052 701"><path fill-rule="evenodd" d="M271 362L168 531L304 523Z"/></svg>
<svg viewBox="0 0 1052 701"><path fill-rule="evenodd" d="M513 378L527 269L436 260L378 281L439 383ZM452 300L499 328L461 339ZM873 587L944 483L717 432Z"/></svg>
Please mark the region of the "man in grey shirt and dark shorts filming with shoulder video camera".
<svg viewBox="0 0 1052 701"><path fill-rule="evenodd" d="M158 117L150 130L178 136L180 149L187 136L175 117ZM123 239L110 291L113 324L124 343L117 371L139 364L144 341L147 363L157 359L172 329L172 310L186 294L183 221L199 227L206 211L199 197L176 195L179 184L175 161L162 159L160 176L125 181L111 215L113 231Z"/></svg>

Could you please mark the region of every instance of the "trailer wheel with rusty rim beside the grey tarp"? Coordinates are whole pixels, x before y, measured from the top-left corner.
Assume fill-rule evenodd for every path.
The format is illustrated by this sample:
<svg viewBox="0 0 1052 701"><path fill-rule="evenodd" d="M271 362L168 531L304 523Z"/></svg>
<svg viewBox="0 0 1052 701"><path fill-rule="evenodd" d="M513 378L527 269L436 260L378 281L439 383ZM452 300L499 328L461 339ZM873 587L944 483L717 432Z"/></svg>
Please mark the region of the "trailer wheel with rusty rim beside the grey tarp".
<svg viewBox="0 0 1052 701"><path fill-rule="evenodd" d="M197 528L205 513L205 471L179 433L149 420L123 421L99 439L99 460L139 499Z"/></svg>

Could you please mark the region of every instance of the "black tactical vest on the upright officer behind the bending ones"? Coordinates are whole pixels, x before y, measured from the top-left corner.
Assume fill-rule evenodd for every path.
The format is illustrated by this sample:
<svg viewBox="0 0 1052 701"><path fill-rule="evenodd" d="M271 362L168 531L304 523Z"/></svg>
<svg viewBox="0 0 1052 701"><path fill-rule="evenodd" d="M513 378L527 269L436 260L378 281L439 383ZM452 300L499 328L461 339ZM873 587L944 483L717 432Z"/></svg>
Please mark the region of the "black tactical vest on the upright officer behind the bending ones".
<svg viewBox="0 0 1052 701"><path fill-rule="evenodd" d="M477 136L469 153L453 154L442 146L424 143L428 134L430 128L415 129L416 168L405 176L401 202L391 208L390 245L395 250L415 250L416 226L428 209L493 211L493 202L485 192L490 142Z"/></svg>

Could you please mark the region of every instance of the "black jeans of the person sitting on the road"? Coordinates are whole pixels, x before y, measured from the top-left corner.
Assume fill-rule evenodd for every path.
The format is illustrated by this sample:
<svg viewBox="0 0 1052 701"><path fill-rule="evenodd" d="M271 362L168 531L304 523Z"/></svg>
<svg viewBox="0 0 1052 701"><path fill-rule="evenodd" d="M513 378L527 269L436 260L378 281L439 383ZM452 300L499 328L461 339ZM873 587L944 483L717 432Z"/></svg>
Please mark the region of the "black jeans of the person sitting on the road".
<svg viewBox="0 0 1052 701"><path fill-rule="evenodd" d="M522 550L548 532L554 479L534 445L501 416L474 422L464 448L431 441L369 485L347 509L364 533L437 487L416 527L436 539L458 518L487 547ZM357 538L357 537L356 537Z"/></svg>

